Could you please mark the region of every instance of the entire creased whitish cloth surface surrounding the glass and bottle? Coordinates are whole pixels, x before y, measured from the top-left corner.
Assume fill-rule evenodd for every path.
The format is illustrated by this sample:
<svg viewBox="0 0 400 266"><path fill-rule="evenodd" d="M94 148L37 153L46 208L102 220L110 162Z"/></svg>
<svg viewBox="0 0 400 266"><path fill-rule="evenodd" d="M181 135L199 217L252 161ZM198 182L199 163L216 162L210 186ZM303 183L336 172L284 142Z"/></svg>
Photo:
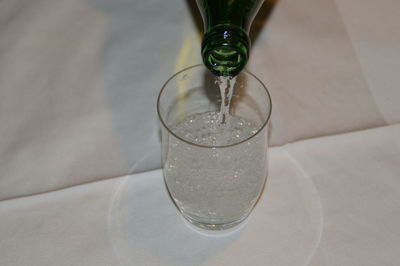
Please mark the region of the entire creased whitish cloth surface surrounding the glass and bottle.
<svg viewBox="0 0 400 266"><path fill-rule="evenodd" d="M201 63L194 1L0 6L1 265L400 265L399 1L264 4L269 175L220 233L160 170L158 91Z"/></svg>

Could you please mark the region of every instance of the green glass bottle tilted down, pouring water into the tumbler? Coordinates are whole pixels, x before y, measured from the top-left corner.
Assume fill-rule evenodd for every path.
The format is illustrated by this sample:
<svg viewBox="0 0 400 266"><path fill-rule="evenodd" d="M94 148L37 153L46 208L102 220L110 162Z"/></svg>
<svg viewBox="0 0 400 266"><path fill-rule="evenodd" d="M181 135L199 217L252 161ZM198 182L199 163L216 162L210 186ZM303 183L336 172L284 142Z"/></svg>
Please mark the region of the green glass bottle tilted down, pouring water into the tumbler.
<svg viewBox="0 0 400 266"><path fill-rule="evenodd" d="M204 21L205 66L217 76L236 76L249 58L249 30L263 0L196 1Z"/></svg>

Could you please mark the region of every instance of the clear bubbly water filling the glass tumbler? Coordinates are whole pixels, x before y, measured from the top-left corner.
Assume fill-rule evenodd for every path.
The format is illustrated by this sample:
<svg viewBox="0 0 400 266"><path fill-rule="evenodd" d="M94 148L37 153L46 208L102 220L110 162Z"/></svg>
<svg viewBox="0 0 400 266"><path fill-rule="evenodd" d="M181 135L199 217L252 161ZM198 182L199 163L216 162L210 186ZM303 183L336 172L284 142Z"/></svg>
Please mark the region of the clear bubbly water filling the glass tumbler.
<svg viewBox="0 0 400 266"><path fill-rule="evenodd" d="M217 227L240 222L251 211L266 178L267 145L265 135L256 134L259 125L229 113L223 123L220 117L193 114L171 127L185 141L169 135L164 165L183 215Z"/></svg>

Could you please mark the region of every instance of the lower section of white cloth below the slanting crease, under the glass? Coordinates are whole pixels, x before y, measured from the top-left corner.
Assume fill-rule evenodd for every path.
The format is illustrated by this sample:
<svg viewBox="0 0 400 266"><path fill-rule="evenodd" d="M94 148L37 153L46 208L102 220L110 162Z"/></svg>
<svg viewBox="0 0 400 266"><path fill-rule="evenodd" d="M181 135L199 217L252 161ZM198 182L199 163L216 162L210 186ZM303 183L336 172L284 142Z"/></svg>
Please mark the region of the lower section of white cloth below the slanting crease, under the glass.
<svg viewBox="0 0 400 266"><path fill-rule="evenodd" d="M184 222L161 170L0 204L1 265L399 265L400 126L272 148L233 232Z"/></svg>

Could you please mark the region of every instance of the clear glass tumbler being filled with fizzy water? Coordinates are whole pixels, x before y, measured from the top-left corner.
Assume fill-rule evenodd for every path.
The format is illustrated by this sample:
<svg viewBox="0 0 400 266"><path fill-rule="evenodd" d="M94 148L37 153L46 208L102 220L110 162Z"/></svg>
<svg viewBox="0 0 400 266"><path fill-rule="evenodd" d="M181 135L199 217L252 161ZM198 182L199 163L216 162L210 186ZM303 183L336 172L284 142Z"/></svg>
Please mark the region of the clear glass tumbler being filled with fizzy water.
<svg viewBox="0 0 400 266"><path fill-rule="evenodd" d="M271 98L253 74L236 77L229 118L219 123L221 93L202 65L172 76L158 96L164 179L192 224L220 230L243 221L267 177Z"/></svg>

